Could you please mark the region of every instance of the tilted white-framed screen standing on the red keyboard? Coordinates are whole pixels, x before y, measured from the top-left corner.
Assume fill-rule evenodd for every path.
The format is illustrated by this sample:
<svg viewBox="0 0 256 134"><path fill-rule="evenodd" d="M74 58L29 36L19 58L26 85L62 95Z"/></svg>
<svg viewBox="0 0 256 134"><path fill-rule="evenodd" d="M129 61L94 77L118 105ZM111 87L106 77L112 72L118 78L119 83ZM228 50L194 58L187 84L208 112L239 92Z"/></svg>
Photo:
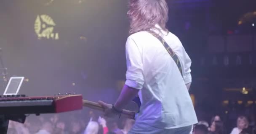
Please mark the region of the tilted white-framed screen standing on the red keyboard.
<svg viewBox="0 0 256 134"><path fill-rule="evenodd" d="M11 77L3 95L17 95L24 77Z"/></svg>

